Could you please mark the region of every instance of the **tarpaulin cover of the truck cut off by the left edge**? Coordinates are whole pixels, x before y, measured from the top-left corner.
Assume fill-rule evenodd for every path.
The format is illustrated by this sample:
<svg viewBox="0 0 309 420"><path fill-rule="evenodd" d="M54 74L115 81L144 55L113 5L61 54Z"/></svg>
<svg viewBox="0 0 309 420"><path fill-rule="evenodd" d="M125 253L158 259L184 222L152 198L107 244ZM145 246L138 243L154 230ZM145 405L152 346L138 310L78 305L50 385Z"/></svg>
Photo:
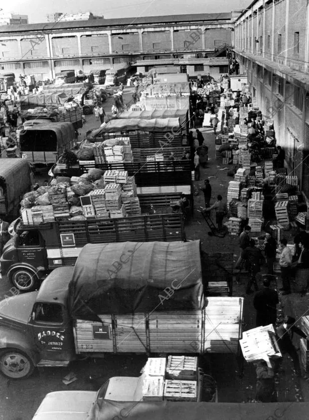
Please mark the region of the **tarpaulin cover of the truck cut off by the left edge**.
<svg viewBox="0 0 309 420"><path fill-rule="evenodd" d="M10 203L26 192L31 185L28 162L19 158L0 159L0 180L4 183L6 201L9 207Z"/></svg>

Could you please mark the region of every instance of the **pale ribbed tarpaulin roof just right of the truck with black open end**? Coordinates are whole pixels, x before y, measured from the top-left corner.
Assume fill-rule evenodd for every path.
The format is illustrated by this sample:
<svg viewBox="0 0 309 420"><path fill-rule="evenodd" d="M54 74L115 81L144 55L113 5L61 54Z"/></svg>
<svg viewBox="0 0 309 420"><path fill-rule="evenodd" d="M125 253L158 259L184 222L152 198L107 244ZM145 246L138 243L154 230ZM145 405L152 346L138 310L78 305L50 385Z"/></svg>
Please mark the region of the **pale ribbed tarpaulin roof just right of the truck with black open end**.
<svg viewBox="0 0 309 420"><path fill-rule="evenodd" d="M118 133L126 131L146 131L153 133L166 133L177 130L180 127L179 118L165 118L154 120L110 120L104 127L100 127L91 132L91 135L97 137L101 133Z"/></svg>

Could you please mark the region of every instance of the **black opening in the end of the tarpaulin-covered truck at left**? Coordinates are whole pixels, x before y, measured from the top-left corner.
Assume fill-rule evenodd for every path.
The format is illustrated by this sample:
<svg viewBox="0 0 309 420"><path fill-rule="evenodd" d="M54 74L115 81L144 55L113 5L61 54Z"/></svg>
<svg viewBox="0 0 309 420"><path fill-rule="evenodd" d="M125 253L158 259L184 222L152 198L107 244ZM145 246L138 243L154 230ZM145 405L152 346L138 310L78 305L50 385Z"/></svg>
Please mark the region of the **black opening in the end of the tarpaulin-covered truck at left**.
<svg viewBox="0 0 309 420"><path fill-rule="evenodd" d="M56 151L57 135L51 130L26 130L20 136L21 151Z"/></svg>

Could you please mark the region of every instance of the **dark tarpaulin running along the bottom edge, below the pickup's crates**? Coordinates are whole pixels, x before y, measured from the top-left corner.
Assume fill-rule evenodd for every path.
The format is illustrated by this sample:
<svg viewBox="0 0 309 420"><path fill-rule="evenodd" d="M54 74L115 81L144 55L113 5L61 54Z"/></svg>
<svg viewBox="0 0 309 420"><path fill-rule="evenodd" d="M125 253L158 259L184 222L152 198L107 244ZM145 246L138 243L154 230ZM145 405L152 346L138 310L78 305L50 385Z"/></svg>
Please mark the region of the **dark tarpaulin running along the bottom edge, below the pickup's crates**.
<svg viewBox="0 0 309 420"><path fill-rule="evenodd" d="M87 420L307 419L309 403L116 402L98 399Z"/></svg>

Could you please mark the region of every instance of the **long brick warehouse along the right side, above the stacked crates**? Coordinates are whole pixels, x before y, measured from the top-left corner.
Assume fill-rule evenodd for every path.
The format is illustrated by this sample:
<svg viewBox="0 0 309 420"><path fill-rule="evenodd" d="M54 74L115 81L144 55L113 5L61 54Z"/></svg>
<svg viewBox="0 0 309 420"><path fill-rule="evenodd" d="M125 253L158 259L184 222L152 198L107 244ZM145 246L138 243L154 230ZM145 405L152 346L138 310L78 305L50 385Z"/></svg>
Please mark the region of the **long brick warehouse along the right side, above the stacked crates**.
<svg viewBox="0 0 309 420"><path fill-rule="evenodd" d="M253 1L235 22L235 54L309 198L308 1Z"/></svg>

